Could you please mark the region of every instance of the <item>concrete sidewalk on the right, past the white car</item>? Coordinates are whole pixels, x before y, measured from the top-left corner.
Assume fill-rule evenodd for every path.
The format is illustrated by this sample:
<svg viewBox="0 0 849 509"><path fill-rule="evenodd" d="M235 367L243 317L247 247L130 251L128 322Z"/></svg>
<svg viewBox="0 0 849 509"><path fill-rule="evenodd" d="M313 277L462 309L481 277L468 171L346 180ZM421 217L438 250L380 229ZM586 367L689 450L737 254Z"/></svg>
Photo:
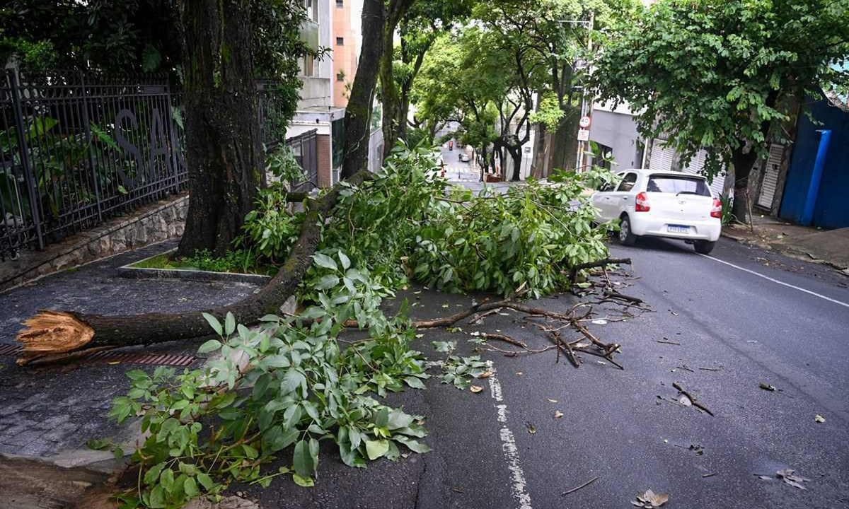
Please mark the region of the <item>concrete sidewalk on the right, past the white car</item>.
<svg viewBox="0 0 849 509"><path fill-rule="evenodd" d="M774 217L756 217L753 225L722 227L722 235L784 255L829 265L849 276L849 228L818 230Z"/></svg>

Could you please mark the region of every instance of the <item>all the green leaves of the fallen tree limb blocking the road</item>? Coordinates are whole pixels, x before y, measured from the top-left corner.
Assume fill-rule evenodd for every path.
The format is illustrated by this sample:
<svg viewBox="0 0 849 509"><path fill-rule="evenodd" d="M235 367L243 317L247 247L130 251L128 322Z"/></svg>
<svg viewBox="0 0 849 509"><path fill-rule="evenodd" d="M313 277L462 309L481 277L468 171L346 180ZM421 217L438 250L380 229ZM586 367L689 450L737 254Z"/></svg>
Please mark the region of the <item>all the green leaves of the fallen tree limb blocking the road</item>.
<svg viewBox="0 0 849 509"><path fill-rule="evenodd" d="M321 440L333 442L351 467L396 460L405 449L426 452L422 417L376 399L424 389L430 378L410 347L415 329L406 309L385 316L382 299L408 272L452 290L540 295L565 288L572 264L606 255L606 230L590 226L593 211L579 195L610 178L606 171L560 173L553 185L529 182L478 197L448 188L430 148L397 146L374 180L343 182L298 294L299 315L265 316L249 329L233 315L205 314L218 337L200 345L201 354L217 355L204 368L127 373L132 389L115 399L110 415L119 422L142 416L149 438L132 456L138 487L122 500L178 507L194 496L214 498L235 481L267 486L284 475L312 486ZM250 221L267 221L271 230L289 225L294 216L271 215L284 210L280 199ZM342 348L338 337L349 320L368 336ZM435 347L447 354L443 383L466 389L487 371L480 357L454 355L456 342ZM281 457L285 467L264 468Z"/></svg>

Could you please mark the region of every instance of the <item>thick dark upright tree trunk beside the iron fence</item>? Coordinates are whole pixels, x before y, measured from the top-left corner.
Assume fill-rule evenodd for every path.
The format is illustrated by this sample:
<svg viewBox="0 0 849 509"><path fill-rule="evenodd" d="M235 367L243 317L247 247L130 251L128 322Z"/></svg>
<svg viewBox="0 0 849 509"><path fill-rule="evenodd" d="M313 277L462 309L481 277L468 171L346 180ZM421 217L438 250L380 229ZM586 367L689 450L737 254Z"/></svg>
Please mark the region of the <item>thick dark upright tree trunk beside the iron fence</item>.
<svg viewBox="0 0 849 509"><path fill-rule="evenodd" d="M247 0L183 0L188 215L179 255L225 255L263 172ZM221 9L219 11L219 8Z"/></svg>

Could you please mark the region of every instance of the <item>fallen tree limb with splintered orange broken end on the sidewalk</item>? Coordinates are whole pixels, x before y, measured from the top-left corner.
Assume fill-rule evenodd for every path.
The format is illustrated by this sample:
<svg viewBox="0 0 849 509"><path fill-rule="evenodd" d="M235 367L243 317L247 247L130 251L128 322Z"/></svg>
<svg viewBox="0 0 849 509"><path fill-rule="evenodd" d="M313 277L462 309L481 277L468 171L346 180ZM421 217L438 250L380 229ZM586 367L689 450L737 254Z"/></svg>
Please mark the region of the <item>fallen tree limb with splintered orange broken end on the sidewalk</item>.
<svg viewBox="0 0 849 509"><path fill-rule="evenodd" d="M346 182L358 186L371 178L368 171L358 171ZM334 209L342 187L336 184L309 207L301 234L290 251L289 258L271 282L256 294L232 305L205 310L219 319L228 312L236 321L251 325L262 316L278 312L278 308L301 284L306 271L312 266L312 255L321 240L323 218ZM27 328L18 333L24 344L19 364L25 364L42 355L68 352L102 346L129 346L152 344L177 339L191 339L211 334L203 311L184 313L145 313L132 316L103 316L71 311L42 311L25 322Z"/></svg>

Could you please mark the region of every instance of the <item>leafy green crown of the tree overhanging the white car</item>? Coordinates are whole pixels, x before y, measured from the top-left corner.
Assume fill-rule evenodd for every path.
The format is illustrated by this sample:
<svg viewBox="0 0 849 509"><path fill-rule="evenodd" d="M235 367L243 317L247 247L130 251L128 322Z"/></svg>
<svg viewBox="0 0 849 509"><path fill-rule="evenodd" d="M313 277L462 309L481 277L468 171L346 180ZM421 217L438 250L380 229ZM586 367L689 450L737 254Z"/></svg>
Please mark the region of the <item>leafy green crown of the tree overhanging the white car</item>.
<svg viewBox="0 0 849 509"><path fill-rule="evenodd" d="M664 133L684 162L707 148L715 176L749 145L766 153L770 124L790 113L782 98L849 79L830 65L849 54L847 16L845 1L664 0L609 32L594 87L627 100L640 133Z"/></svg>

